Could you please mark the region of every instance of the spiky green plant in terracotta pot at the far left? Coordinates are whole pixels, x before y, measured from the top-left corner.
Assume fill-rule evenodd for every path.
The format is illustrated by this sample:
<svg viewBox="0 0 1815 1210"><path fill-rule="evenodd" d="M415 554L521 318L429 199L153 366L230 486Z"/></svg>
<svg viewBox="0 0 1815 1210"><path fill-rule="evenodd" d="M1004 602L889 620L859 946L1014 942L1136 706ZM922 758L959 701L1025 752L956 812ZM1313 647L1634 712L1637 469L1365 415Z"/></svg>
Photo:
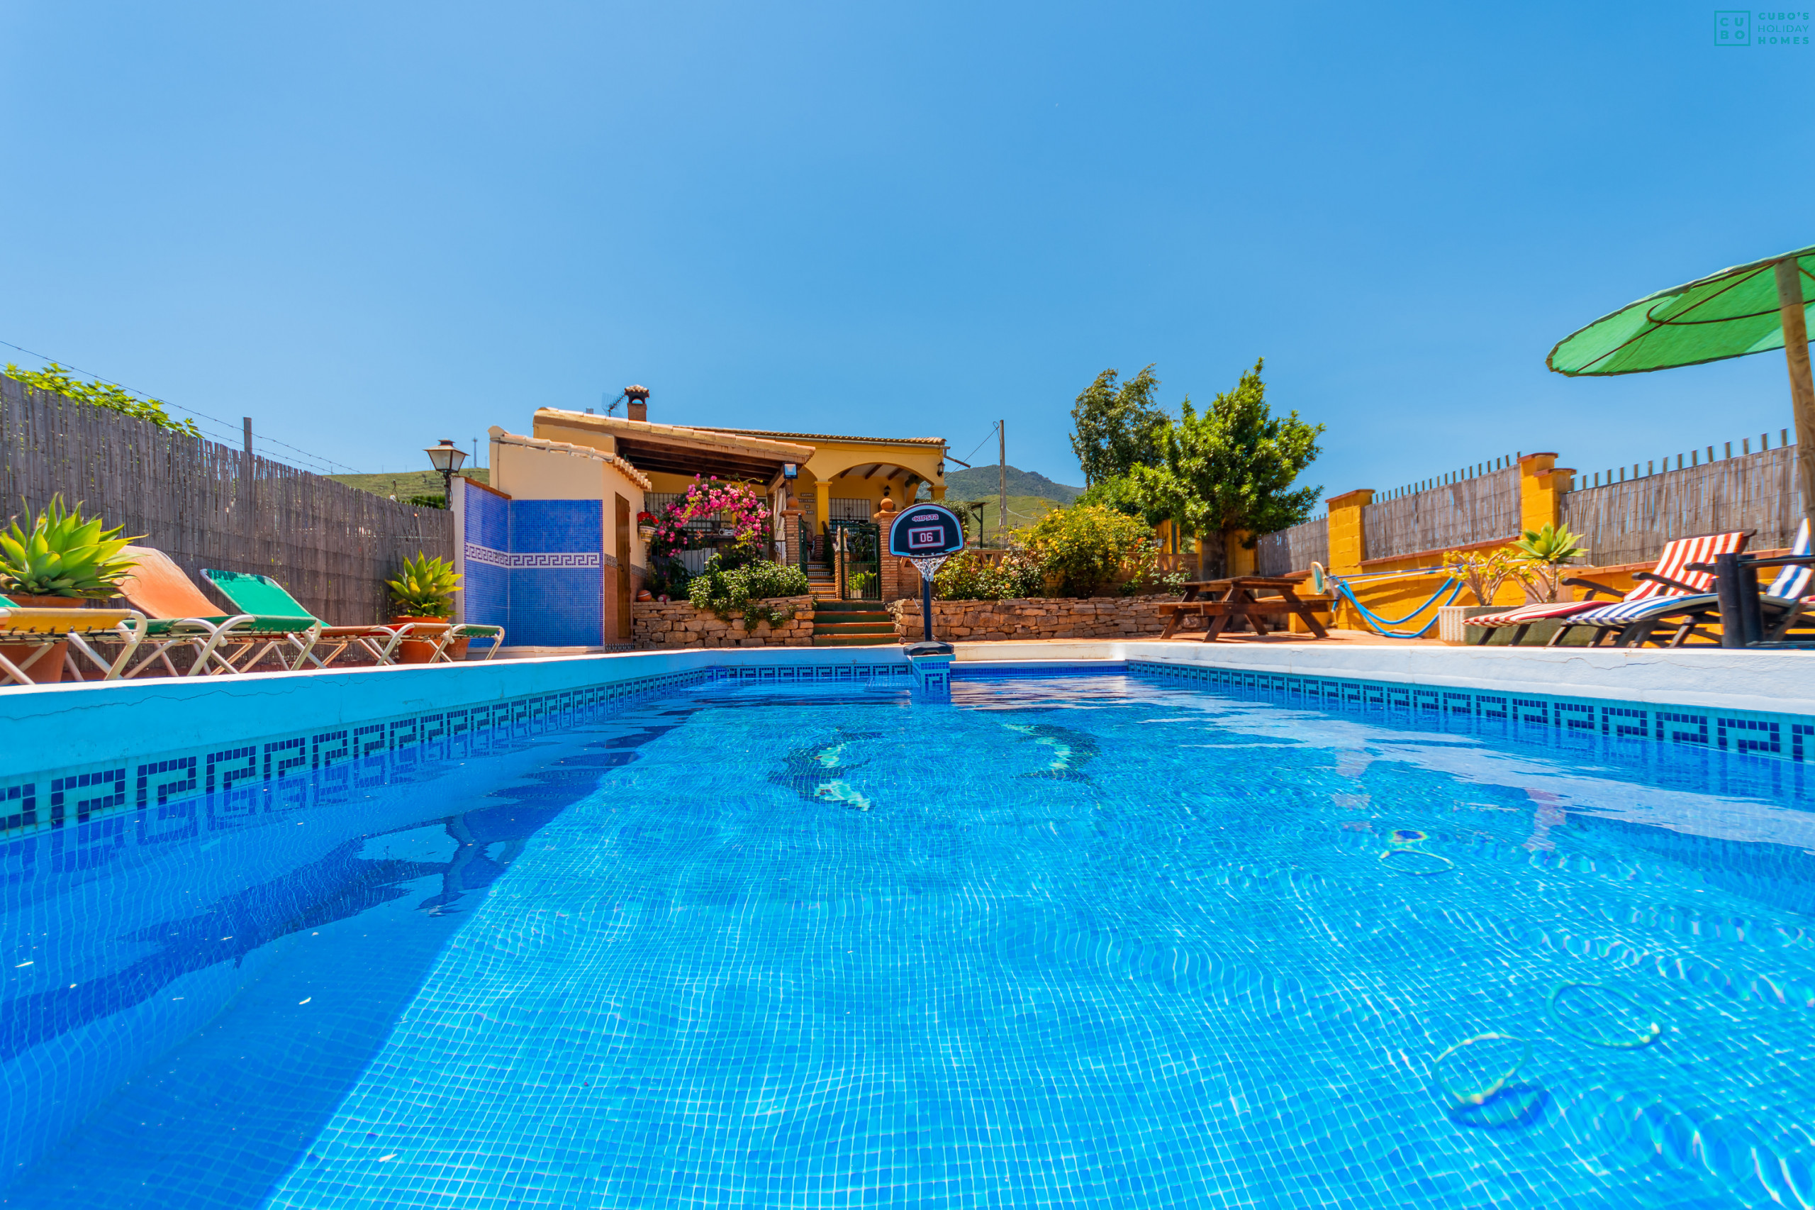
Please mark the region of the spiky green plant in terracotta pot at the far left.
<svg viewBox="0 0 1815 1210"><path fill-rule="evenodd" d="M83 601L120 594L120 581L132 570L122 550L132 538L120 538L120 525L102 529L100 518L83 518L82 503L64 507L51 496L31 531L18 520L0 531L0 592L15 605L34 609L80 609ZM0 654L18 663L36 650L36 643L0 643ZM31 665L31 679L53 685L64 678L64 652L56 643Z"/></svg>

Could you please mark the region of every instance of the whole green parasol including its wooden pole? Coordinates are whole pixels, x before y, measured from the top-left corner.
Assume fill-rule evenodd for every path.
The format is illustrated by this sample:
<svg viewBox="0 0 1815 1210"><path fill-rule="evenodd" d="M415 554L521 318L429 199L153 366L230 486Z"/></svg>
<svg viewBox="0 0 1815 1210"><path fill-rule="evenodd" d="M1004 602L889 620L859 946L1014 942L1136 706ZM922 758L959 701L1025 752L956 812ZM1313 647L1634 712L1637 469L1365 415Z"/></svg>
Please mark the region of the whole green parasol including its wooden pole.
<svg viewBox="0 0 1815 1210"><path fill-rule="evenodd" d="M1559 374L1643 374L1782 349L1797 420L1802 511L1815 516L1815 382L1808 309L1815 247L1722 269L1657 291L1557 342L1545 363Z"/></svg>

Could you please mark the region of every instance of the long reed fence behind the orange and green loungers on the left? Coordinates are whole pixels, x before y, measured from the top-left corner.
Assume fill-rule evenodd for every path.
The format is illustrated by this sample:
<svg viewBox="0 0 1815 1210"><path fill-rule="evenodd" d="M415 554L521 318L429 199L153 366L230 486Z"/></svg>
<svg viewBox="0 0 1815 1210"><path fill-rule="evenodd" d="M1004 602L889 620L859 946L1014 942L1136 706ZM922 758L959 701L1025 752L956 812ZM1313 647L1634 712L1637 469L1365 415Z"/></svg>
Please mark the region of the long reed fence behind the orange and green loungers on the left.
<svg viewBox="0 0 1815 1210"><path fill-rule="evenodd" d="M454 514L416 509L231 445L169 432L0 376L0 516L53 494L203 567L272 576L338 625L388 614L405 556L454 554Z"/></svg>

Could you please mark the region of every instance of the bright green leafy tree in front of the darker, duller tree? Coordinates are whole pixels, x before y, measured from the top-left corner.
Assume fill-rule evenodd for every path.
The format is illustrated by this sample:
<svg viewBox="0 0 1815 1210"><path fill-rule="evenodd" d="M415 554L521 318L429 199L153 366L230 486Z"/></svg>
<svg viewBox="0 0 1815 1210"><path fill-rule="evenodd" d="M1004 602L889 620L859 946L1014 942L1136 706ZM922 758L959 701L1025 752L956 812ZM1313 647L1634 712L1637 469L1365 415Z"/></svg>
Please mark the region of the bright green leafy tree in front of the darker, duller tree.
<svg viewBox="0 0 1815 1210"><path fill-rule="evenodd" d="M1151 514L1178 521L1180 532L1205 543L1205 572L1223 572L1225 538L1249 534L1252 547L1261 534L1298 525L1318 503L1321 487L1290 491L1300 471L1316 460L1323 425L1307 425L1298 412L1274 418L1263 362L1241 374L1234 391L1218 394L1198 414L1185 400L1176 422L1158 432L1154 465L1136 465L1129 474Z"/></svg>

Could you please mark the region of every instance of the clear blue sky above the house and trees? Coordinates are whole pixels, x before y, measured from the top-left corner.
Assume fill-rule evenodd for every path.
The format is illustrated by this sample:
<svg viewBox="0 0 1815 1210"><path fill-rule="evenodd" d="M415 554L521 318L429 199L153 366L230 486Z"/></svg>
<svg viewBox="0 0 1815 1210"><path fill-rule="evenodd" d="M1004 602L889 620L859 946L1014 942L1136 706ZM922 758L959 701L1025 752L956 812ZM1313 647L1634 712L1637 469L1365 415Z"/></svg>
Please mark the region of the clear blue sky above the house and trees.
<svg viewBox="0 0 1815 1210"><path fill-rule="evenodd" d="M1815 45L1713 11L5 0L0 340L359 471L639 382L1078 481L1100 369L1256 356L1329 492L1775 445L1777 354L1543 365L1815 243Z"/></svg>

